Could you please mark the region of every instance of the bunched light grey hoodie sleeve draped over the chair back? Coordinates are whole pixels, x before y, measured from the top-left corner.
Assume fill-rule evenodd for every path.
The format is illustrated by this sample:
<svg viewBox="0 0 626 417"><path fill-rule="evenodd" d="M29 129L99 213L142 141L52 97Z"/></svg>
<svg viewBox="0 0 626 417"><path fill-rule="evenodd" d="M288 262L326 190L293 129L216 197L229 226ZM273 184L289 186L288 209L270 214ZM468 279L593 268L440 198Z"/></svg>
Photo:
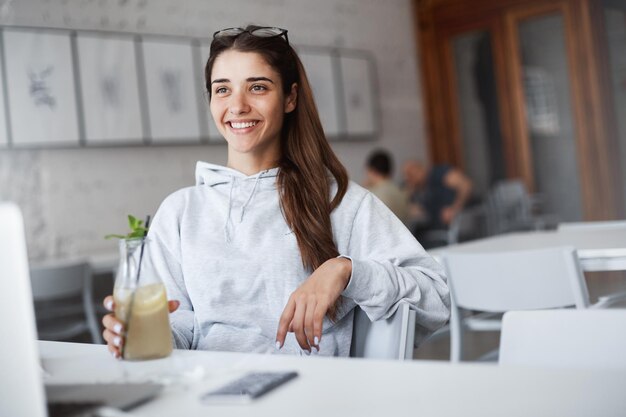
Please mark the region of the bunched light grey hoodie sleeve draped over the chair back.
<svg viewBox="0 0 626 417"><path fill-rule="evenodd" d="M450 295L443 268L371 193L359 205L348 252L341 256L352 261L352 276L343 295L370 320L390 317L398 303L406 301L417 313L418 337L447 322Z"/></svg>

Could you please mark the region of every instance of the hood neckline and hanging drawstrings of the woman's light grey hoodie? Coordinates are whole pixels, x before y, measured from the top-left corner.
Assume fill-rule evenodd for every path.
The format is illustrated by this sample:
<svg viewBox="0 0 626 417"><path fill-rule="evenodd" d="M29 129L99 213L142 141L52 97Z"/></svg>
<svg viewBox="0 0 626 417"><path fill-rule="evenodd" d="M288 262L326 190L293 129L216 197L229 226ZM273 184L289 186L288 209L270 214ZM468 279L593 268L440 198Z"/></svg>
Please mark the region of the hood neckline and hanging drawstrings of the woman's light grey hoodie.
<svg viewBox="0 0 626 417"><path fill-rule="evenodd" d="M246 209L251 204L259 188L275 187L276 176L279 168L266 169L254 175L246 175L235 169L221 165L209 164L208 162L198 162L196 164L196 186L217 187L229 185L228 203L226 218L224 220L224 237L227 242L231 242L233 234L236 232L236 225L242 223L246 215ZM250 189L249 183L254 182ZM241 195L247 193L247 195ZM239 216L233 215L234 200L243 198L243 204L239 210ZM233 217L235 217L233 219Z"/></svg>

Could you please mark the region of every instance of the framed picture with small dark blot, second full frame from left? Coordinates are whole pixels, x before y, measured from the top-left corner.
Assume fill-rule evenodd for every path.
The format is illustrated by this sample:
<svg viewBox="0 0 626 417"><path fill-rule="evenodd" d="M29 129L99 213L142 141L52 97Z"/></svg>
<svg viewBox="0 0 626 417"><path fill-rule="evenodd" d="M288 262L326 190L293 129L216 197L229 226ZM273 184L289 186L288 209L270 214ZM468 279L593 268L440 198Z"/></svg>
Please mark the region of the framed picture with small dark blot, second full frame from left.
<svg viewBox="0 0 626 417"><path fill-rule="evenodd" d="M135 41L79 33L77 45L87 144L142 143Z"/></svg>

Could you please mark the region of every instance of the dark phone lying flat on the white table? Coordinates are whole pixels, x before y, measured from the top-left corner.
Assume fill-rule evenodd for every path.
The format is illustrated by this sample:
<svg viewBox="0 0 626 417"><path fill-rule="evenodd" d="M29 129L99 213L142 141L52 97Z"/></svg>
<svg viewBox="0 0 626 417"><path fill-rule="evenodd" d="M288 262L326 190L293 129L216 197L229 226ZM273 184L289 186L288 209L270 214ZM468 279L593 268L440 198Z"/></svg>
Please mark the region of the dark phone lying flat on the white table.
<svg viewBox="0 0 626 417"><path fill-rule="evenodd" d="M200 396L206 404L246 403L291 381L297 372L251 372Z"/></svg>

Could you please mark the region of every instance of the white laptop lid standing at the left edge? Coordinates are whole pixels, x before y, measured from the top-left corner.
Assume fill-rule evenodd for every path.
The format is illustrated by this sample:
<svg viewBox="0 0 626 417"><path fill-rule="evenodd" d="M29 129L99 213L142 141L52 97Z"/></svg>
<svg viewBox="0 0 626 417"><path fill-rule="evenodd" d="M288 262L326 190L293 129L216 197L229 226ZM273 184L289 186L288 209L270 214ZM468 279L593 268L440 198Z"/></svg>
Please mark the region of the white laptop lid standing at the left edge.
<svg viewBox="0 0 626 417"><path fill-rule="evenodd" d="M19 208L0 203L0 415L46 415L37 330Z"/></svg>

